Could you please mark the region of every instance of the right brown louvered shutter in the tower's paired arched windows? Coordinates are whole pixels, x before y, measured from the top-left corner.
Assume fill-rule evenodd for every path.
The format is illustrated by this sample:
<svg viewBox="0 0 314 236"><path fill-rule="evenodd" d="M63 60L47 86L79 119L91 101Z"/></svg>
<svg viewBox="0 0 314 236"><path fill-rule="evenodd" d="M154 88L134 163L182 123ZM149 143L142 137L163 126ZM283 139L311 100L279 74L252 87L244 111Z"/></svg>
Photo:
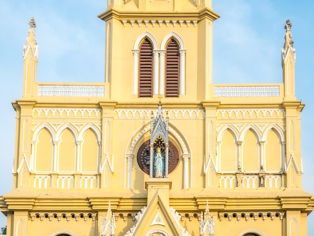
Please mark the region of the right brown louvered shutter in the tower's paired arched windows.
<svg viewBox="0 0 314 236"><path fill-rule="evenodd" d="M172 39L166 48L166 97L179 97L179 58L179 45Z"/></svg>

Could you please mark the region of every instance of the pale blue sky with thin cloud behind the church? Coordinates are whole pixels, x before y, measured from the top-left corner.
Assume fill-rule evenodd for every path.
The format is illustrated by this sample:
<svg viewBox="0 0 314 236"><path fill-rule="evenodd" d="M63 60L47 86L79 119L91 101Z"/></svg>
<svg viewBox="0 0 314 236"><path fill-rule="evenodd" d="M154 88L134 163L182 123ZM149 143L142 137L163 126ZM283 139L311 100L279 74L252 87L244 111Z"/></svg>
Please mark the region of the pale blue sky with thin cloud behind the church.
<svg viewBox="0 0 314 236"><path fill-rule="evenodd" d="M221 15L213 28L214 83L281 83L283 27L286 19L291 20L296 49L296 96L306 103L301 113L303 188L314 193L314 177L311 176L314 168L311 149L314 60L310 54L314 41L314 1L212 1L214 11ZM16 113L11 101L22 96L23 45L28 36L29 20L35 17L37 24L37 81L103 82L105 24L97 15L105 9L105 0L1 1L0 195L9 192L13 185ZM6 217L0 214L0 227L5 225ZM314 212L308 217L308 229L308 235L314 235Z"/></svg>

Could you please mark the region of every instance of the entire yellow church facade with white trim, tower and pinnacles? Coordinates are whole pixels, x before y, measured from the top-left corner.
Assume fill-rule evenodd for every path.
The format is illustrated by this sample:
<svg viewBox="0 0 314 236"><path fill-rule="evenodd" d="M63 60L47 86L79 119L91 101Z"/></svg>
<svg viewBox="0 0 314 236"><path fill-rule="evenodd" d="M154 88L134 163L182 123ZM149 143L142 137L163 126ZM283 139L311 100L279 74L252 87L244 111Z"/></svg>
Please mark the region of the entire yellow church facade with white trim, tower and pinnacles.
<svg viewBox="0 0 314 236"><path fill-rule="evenodd" d="M214 84L211 2L108 0L103 83L37 82L31 19L7 235L307 235L291 23L282 83Z"/></svg>

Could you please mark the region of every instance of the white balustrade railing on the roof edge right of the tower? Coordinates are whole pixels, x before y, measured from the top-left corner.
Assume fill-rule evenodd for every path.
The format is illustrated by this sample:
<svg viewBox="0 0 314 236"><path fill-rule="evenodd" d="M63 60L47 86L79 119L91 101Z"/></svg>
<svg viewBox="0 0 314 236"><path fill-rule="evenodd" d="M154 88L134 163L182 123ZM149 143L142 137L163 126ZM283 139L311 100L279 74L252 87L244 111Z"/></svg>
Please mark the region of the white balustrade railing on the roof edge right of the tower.
<svg viewBox="0 0 314 236"><path fill-rule="evenodd" d="M274 86L215 86L215 97L278 97L279 85Z"/></svg>

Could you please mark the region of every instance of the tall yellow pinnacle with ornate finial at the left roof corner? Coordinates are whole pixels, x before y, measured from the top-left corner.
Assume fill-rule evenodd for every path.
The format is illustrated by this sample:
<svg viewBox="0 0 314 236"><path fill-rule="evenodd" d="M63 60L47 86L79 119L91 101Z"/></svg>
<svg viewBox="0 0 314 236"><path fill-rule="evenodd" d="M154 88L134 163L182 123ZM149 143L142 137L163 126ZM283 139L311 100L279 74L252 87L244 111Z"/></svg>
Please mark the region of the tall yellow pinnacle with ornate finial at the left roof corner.
<svg viewBox="0 0 314 236"><path fill-rule="evenodd" d="M23 97L34 96L36 92L33 90L36 83L36 70L38 63L38 45L36 42L35 34L35 19L31 18L29 35L26 39L26 45L24 46L23 58L24 58L24 76L23 76Z"/></svg>

